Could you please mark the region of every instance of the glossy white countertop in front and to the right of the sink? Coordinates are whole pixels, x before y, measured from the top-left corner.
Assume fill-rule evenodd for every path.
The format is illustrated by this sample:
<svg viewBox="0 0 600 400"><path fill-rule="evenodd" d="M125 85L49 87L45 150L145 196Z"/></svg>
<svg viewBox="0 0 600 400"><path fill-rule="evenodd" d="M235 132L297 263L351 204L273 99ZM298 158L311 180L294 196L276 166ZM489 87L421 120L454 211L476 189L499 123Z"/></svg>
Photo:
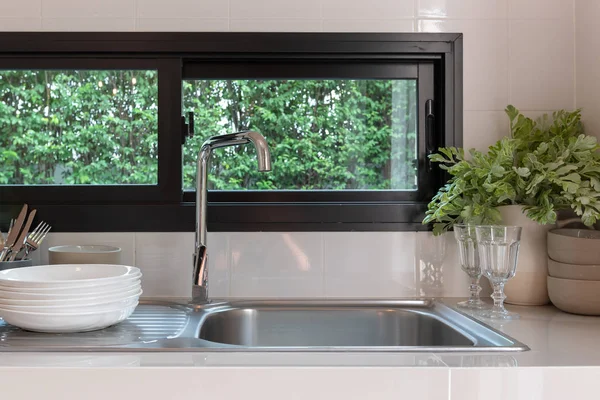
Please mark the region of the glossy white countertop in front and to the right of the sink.
<svg viewBox="0 0 600 400"><path fill-rule="evenodd" d="M449 305L456 301L444 299ZM115 390L118 398L120 387L138 382L144 388L145 396L163 399L165 397L160 396L165 390L167 398L174 398L169 395L173 388L191 395L198 393L198 387L204 385L205 393L214 393L220 399L239 398L242 394L245 399L253 398L254 390L261 400L270 398L268 393L272 393L273 399L280 398L282 391L292 398L295 395L290 391L300 393L298 398L302 398L314 395L317 388L321 394L336 388L335 392L331 392L333 397L329 398L341 398L343 393L346 400L388 398L388 395L389 398L397 398L399 393L414 393L423 399L447 400L450 396L457 396L462 400L479 398L467 395L470 393L468 390L473 389L474 382L493 385L497 379L514 379L516 386L509 385L511 390L503 390L486 399L520 399L514 396L541 390L540 393L550 396L539 397L545 400L560 398L554 396L562 393L561 390L567 390L569 383L574 380L581 381L578 390L587 390L585 388L588 385L595 386L600 381L600 318L566 314L553 306L508 308L520 313L521 319L502 324L485 322L527 344L530 351L360 354L0 353L0 390L9 390L9 393L10 390L22 390L22 385L31 382L31 385L27 383L31 393L18 398L29 398L29 395L54 398L48 397L48 392L42 389L44 385L33 384L46 382L56 386L57 395L63 396L56 398L67 399L70 397L64 390L72 385L83 385L81 390L87 391L85 388L89 385L102 382L98 390L104 395L98 394L98 398L105 399L108 397L104 391ZM556 368L548 367L569 368L560 368L557 373ZM540 369L544 372L536 375L535 371ZM491 371L495 371L493 375L489 375ZM525 377L520 378L523 374ZM66 386L58 385L59 382ZM268 393L265 394L267 384ZM553 385L558 385L558 388ZM484 386L480 387L482 393ZM467 392L460 392L461 388ZM380 395L373 397L373 391ZM77 391L74 393L81 394ZM569 393L571 396L572 393ZM586 391L581 393L589 395ZM96 394L88 395L91 397L86 398L96 398ZM600 398L600 394L597 396Z"/></svg>

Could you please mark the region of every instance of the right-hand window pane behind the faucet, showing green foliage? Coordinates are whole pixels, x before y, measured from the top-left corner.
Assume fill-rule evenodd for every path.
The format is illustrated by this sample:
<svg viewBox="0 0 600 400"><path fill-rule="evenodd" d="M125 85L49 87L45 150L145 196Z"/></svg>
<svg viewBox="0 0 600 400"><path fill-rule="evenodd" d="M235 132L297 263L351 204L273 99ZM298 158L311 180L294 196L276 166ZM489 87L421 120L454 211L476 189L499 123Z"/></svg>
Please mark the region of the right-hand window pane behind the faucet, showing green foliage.
<svg viewBox="0 0 600 400"><path fill-rule="evenodd" d="M271 145L269 174L252 168L252 149L215 152L213 190L417 189L415 79L193 80L183 98L199 132L254 129ZM184 147L185 190L204 139Z"/></svg>

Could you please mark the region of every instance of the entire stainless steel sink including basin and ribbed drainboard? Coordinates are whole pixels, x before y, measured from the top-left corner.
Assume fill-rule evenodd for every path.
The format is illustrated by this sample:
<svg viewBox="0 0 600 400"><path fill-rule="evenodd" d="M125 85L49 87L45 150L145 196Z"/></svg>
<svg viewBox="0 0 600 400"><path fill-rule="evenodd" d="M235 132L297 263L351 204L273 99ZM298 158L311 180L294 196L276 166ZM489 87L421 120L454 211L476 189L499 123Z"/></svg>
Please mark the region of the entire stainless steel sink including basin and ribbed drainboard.
<svg viewBox="0 0 600 400"><path fill-rule="evenodd" d="M125 322L80 334L0 322L0 351L524 351L524 344L432 300L144 303Z"/></svg>

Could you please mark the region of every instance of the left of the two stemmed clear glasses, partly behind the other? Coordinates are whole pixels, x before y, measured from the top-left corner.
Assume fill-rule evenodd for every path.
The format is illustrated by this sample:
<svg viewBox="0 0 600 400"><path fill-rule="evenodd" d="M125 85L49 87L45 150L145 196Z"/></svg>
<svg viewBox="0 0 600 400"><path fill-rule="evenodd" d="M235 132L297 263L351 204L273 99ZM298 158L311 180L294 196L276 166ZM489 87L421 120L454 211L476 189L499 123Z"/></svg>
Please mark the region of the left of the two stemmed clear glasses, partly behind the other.
<svg viewBox="0 0 600 400"><path fill-rule="evenodd" d="M460 259L460 267L471 278L469 289L471 296L467 301L461 301L456 306L471 310L481 310L486 307L485 303L479 298L481 286L481 266L479 264L479 253L477 251L477 236L475 233L475 225L454 225L454 237L458 242L458 255Z"/></svg>

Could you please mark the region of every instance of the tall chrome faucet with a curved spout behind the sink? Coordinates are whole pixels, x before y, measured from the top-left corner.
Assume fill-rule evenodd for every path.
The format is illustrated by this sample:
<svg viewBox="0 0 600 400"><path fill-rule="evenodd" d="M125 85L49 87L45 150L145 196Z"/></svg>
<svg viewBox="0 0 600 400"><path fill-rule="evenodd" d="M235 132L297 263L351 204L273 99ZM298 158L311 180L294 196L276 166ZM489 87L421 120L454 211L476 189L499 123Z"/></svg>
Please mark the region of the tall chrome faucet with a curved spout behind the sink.
<svg viewBox="0 0 600 400"><path fill-rule="evenodd" d="M213 136L202 145L198 154L196 172L196 241L194 252L194 303L206 303L208 299L208 264L206 251L206 205L208 161L213 149L252 143L258 153L258 170L271 170L271 153L267 141L258 132L243 131Z"/></svg>

